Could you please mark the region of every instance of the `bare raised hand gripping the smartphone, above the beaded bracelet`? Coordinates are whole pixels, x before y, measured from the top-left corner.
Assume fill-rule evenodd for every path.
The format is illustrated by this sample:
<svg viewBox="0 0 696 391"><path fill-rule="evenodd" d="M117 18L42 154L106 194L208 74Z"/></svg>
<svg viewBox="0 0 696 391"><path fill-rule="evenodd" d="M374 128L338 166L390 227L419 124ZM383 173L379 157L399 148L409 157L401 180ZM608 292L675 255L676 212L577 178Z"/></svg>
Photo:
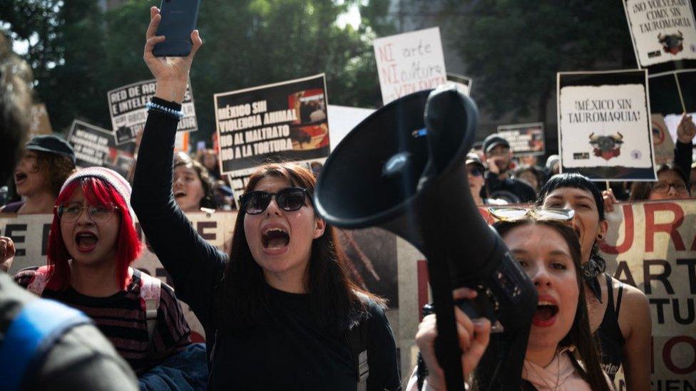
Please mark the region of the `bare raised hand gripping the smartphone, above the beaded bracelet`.
<svg viewBox="0 0 696 391"><path fill-rule="evenodd" d="M157 26L159 26L162 16L160 10L153 6L150 8L150 26L145 34L145 51L143 59L150 68L153 76L157 80L157 90L155 96L164 100L181 103L186 93L188 83L188 73L193 63L193 56L203 45L198 30L191 32L193 47L191 53L186 57L155 57L153 48L156 44L164 42L165 36L156 36Z"/></svg>

